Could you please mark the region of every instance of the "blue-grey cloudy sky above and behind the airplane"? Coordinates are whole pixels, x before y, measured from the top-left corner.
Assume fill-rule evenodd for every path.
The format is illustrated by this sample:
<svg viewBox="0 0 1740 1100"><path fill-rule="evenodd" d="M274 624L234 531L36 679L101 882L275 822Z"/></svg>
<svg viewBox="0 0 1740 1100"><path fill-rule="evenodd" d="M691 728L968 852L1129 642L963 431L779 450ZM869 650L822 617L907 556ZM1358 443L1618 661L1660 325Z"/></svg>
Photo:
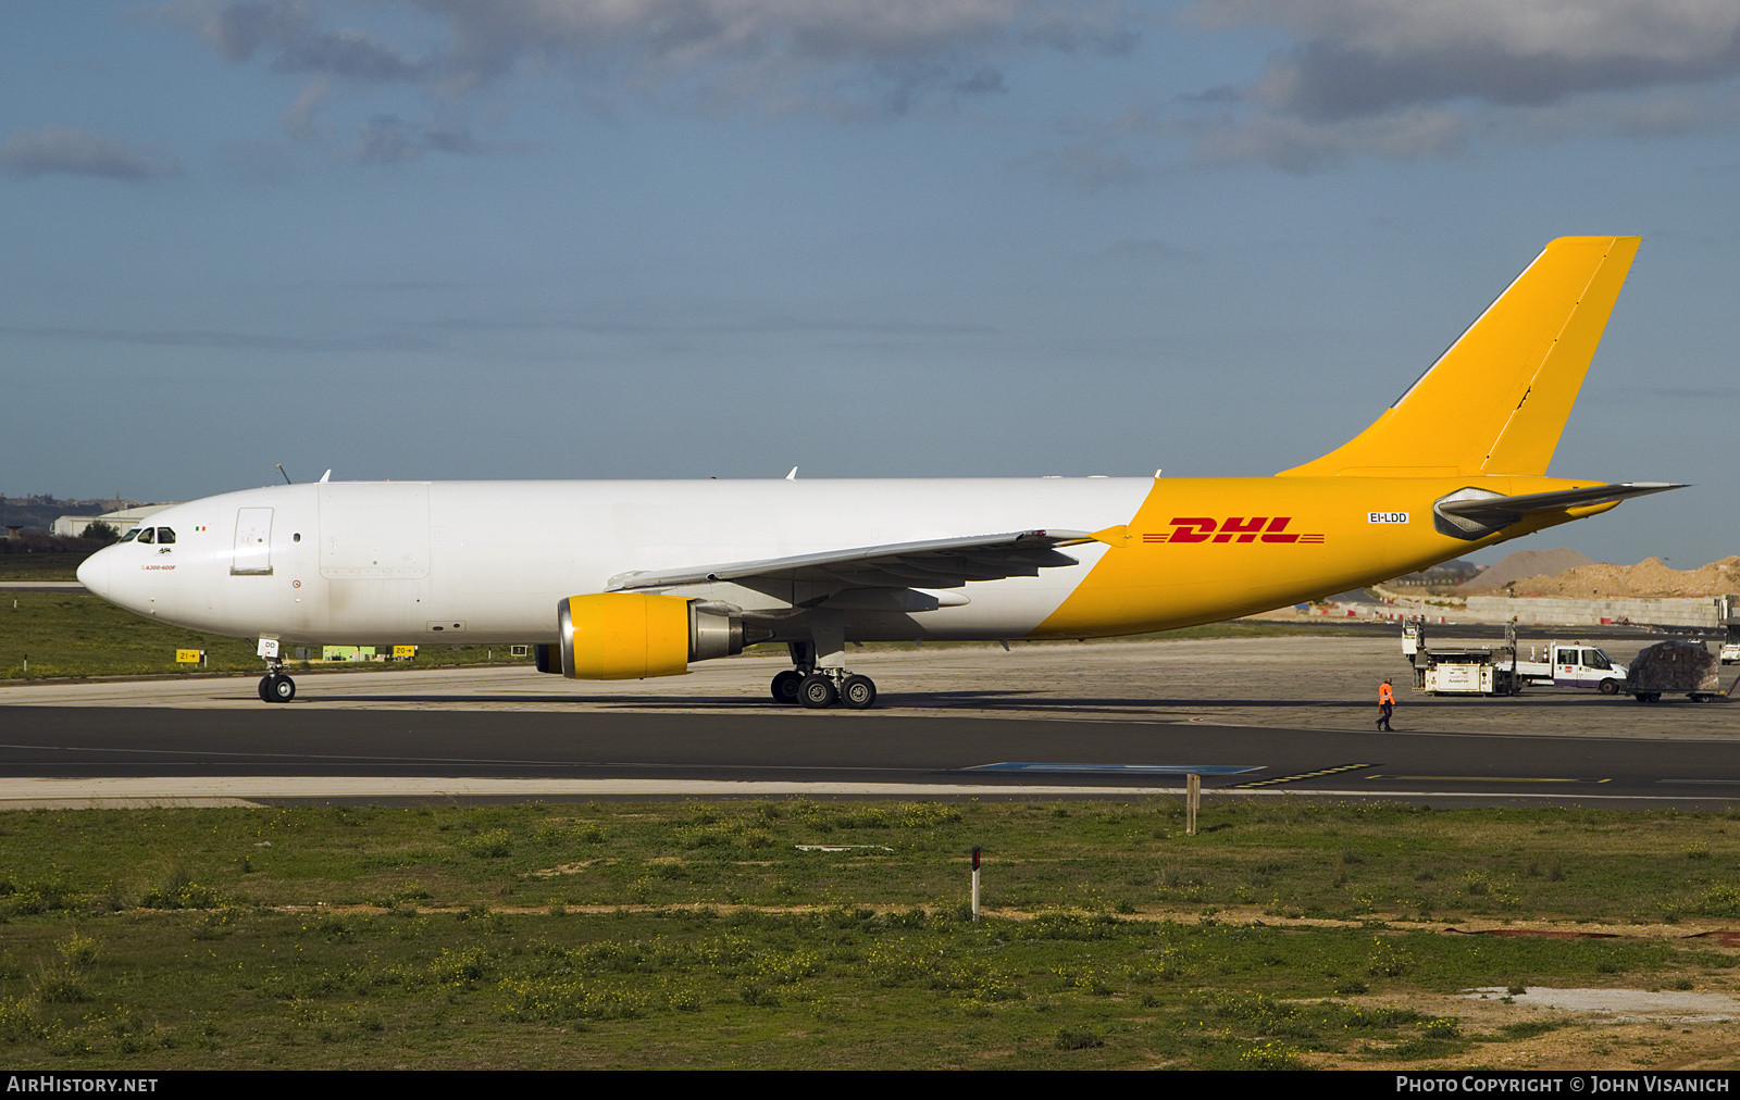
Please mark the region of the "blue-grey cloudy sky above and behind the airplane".
<svg viewBox="0 0 1740 1100"><path fill-rule="evenodd" d="M0 493L1268 475L1643 251L1477 555L1740 553L1731 0L0 5ZM1042 522L1042 519L1035 519Z"/></svg>

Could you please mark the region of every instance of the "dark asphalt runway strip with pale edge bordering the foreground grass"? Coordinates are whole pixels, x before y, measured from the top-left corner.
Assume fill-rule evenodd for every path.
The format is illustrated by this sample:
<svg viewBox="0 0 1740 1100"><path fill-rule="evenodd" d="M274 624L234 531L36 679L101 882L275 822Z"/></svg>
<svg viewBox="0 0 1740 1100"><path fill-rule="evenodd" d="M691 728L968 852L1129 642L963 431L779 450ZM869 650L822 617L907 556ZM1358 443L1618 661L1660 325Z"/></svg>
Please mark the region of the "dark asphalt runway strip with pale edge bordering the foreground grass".
<svg viewBox="0 0 1740 1100"><path fill-rule="evenodd" d="M900 714L0 708L0 806L1213 797L1717 806L1724 741ZM110 802L117 799L118 802Z"/></svg>

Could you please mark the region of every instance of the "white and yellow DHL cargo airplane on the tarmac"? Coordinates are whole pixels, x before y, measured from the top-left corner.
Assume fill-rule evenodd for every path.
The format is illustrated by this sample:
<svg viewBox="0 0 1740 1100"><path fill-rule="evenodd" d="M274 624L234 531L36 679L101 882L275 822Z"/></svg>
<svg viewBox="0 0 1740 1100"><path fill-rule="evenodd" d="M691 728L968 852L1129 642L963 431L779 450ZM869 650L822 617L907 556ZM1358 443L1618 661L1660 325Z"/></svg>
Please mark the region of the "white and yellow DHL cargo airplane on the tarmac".
<svg viewBox="0 0 1740 1100"><path fill-rule="evenodd" d="M539 672L640 679L783 642L774 700L863 708L847 642L1213 623L1677 487L1547 477L1637 242L1554 240L1369 428L1274 477L322 479L158 512L78 580L258 639L266 701L296 694L294 644L524 642Z"/></svg>

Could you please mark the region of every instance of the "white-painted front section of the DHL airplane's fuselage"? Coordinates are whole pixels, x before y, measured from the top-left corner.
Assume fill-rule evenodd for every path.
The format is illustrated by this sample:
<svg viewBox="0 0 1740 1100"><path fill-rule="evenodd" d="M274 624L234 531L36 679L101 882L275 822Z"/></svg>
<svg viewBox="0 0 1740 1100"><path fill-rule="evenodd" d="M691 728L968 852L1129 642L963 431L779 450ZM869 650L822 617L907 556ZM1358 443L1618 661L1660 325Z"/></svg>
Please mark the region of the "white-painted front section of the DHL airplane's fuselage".
<svg viewBox="0 0 1740 1100"><path fill-rule="evenodd" d="M284 642L548 642L555 606L630 571L818 553L962 533L1098 531L1128 522L1150 479L320 482L176 505L172 545L108 547L87 588L162 621ZM964 606L849 616L849 637L1013 639L1042 623L1079 566L973 581ZM686 595L781 600L720 585ZM788 606L788 604L785 604Z"/></svg>

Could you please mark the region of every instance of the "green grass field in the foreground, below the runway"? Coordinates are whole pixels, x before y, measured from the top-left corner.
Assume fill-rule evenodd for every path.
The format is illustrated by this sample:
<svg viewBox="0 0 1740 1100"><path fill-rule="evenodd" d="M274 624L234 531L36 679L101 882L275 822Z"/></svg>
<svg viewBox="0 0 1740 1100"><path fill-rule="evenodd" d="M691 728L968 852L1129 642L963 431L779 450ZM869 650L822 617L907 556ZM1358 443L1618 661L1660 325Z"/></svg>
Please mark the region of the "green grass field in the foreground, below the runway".
<svg viewBox="0 0 1740 1100"><path fill-rule="evenodd" d="M1496 1060L1557 1025L1399 1006L1420 992L1735 987L1707 942L1418 921L1740 916L1726 816L1279 802L1204 823L1181 835L1173 799L9 813L0 1051L1267 1069Z"/></svg>

